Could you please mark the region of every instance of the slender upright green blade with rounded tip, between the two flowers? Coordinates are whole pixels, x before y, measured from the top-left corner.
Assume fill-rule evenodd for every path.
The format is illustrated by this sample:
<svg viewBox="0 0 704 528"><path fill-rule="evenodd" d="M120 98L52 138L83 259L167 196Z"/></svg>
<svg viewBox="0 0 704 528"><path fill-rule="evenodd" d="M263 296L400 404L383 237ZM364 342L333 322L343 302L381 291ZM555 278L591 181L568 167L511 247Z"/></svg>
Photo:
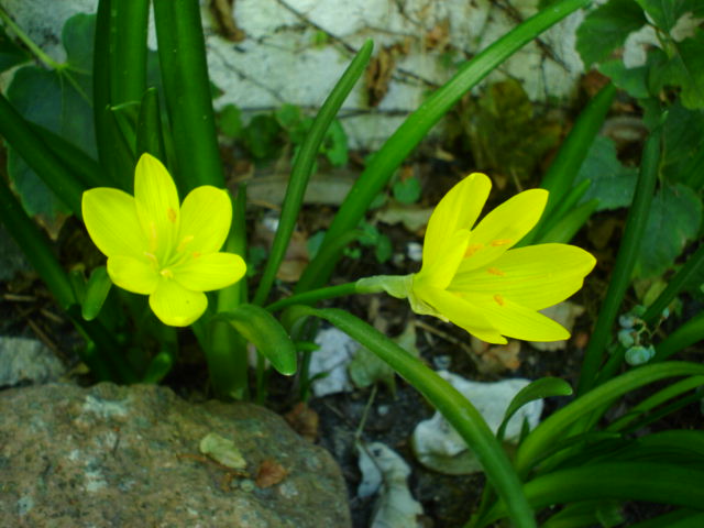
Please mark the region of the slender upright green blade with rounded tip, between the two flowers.
<svg viewBox="0 0 704 528"><path fill-rule="evenodd" d="M260 286L254 295L253 302L255 305L262 305L270 294L278 267L288 249L294 228L296 227L298 211L300 211L300 206L304 202L304 195L308 186L308 179L312 173L316 156L320 151L320 144L330 128L330 123L370 62L373 47L374 44L372 41L364 43L350 66L348 66L348 69L342 74L340 80L336 84L326 102L323 102L310 127L310 131L306 134L304 143L300 145L300 150L294 161L288 187L286 188L280 221L276 229L274 242L272 243L272 251L266 261Z"/></svg>

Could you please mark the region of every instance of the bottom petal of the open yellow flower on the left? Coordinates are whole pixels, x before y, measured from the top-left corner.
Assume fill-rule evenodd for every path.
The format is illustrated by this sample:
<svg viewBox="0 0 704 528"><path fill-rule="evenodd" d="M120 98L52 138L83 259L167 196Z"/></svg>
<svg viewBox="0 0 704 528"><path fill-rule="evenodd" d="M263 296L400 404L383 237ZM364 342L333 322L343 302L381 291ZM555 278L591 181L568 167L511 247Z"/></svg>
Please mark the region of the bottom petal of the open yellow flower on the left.
<svg viewBox="0 0 704 528"><path fill-rule="evenodd" d="M201 292L191 292L175 280L162 278L156 292L150 295L150 307L164 324L187 327L206 311L208 298Z"/></svg>

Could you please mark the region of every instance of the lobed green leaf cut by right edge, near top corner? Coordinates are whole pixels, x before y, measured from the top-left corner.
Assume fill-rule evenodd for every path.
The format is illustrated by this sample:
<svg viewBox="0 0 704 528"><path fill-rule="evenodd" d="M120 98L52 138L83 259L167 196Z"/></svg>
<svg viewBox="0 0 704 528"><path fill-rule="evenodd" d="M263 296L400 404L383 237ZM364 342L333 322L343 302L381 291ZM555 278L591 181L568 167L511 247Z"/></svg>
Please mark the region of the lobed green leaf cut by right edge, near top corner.
<svg viewBox="0 0 704 528"><path fill-rule="evenodd" d="M672 42L670 47L670 55L660 48L648 53L650 91L658 94L666 87L676 87L682 106L704 108L704 31Z"/></svg>

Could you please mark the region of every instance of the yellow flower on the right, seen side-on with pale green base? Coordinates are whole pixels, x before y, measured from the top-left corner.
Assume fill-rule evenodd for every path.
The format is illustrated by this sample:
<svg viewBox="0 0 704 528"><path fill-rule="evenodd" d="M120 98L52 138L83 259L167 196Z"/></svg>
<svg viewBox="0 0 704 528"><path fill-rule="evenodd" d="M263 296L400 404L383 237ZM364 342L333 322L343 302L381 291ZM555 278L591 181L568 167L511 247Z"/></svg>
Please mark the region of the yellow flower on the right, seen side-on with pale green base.
<svg viewBox="0 0 704 528"><path fill-rule="evenodd" d="M568 339L561 324L538 310L580 289L596 260L568 244L510 249L540 219L543 189L514 196L474 227L491 188L479 173L455 185L430 217L420 272L362 279L358 290L407 297L417 314L452 321L490 343L506 343L505 337Z"/></svg>

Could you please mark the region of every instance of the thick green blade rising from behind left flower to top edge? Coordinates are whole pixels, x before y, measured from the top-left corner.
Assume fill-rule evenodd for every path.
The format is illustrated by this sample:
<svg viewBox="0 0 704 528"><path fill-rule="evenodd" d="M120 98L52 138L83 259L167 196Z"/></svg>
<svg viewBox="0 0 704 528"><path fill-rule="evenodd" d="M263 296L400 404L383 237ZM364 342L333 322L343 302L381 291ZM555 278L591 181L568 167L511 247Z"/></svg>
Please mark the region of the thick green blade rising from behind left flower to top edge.
<svg viewBox="0 0 704 528"><path fill-rule="evenodd" d="M166 108L182 194L224 187L198 0L154 0Z"/></svg>

